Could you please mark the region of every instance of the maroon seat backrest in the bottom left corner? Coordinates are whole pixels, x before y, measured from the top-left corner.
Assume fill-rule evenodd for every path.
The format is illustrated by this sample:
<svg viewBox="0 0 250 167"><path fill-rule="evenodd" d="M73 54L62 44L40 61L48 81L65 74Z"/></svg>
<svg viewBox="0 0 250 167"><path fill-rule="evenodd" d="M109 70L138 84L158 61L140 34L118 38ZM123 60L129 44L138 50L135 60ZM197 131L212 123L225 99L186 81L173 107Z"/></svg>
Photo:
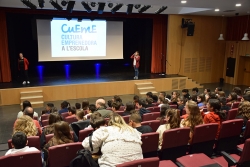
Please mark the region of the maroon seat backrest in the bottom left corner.
<svg viewBox="0 0 250 167"><path fill-rule="evenodd" d="M0 157L1 167L42 167L42 158L40 151L9 154Z"/></svg>

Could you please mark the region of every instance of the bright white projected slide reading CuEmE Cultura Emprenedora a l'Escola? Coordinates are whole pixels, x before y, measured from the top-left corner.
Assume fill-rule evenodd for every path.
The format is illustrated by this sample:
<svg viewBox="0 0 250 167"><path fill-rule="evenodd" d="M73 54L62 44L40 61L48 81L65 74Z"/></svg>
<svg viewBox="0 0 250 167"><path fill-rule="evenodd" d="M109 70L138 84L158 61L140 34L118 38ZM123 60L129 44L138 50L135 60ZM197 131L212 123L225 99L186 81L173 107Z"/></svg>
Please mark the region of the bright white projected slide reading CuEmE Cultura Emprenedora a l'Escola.
<svg viewBox="0 0 250 167"><path fill-rule="evenodd" d="M106 56L106 21L52 20L52 57Z"/></svg>

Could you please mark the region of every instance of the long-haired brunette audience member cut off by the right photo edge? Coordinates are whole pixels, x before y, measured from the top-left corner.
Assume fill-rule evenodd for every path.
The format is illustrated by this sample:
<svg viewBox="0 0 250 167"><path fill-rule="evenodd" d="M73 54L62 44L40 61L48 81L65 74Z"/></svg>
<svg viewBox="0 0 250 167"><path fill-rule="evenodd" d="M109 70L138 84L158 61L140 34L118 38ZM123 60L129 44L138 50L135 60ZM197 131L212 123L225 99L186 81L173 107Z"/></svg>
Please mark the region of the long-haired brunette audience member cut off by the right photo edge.
<svg viewBox="0 0 250 167"><path fill-rule="evenodd" d="M236 119L243 119L243 129L245 129L247 121L250 119L250 102L243 101L238 108Z"/></svg>

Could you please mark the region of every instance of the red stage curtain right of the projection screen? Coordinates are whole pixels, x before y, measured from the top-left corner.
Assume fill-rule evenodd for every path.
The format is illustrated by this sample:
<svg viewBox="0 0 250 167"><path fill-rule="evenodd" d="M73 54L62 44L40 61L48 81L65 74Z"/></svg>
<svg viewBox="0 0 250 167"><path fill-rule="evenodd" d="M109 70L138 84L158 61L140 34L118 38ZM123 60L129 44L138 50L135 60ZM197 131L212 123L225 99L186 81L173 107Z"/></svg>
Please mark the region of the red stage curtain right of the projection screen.
<svg viewBox="0 0 250 167"><path fill-rule="evenodd" d="M153 21L151 73L166 72L168 16L158 16Z"/></svg>

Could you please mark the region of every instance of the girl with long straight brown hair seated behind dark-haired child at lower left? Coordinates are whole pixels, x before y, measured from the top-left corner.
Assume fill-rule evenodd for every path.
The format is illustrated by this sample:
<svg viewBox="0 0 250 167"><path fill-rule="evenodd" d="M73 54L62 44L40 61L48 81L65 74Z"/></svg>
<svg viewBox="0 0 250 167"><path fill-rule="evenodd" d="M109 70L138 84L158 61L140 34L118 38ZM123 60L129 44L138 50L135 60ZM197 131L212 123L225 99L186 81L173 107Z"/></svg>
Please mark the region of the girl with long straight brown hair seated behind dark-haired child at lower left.
<svg viewBox="0 0 250 167"><path fill-rule="evenodd" d="M61 144L73 143L73 136L67 122L61 121L54 124L54 136L44 145L44 160L48 160L49 147Z"/></svg>

